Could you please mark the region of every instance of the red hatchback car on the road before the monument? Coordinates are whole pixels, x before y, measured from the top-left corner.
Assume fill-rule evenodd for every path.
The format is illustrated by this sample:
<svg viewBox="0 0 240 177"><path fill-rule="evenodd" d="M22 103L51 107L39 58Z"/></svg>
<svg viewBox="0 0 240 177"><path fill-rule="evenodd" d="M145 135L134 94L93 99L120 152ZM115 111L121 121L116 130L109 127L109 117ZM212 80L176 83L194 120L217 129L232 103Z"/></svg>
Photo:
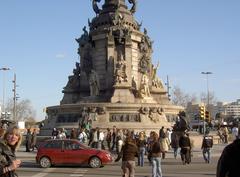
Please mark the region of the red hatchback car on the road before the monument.
<svg viewBox="0 0 240 177"><path fill-rule="evenodd" d="M60 164L88 164L99 168L112 162L108 151L90 148L77 140L46 140L38 148L36 162L43 168Z"/></svg>

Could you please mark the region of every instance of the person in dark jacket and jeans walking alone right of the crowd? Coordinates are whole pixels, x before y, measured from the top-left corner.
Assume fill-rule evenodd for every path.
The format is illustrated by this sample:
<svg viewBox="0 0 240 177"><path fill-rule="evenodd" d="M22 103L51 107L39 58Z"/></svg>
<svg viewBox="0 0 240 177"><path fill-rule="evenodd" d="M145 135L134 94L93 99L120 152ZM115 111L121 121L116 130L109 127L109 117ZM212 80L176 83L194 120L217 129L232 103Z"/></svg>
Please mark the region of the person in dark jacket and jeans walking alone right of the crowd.
<svg viewBox="0 0 240 177"><path fill-rule="evenodd" d="M211 148L213 146L213 137L208 132L203 136L202 153L206 163L210 163Z"/></svg>

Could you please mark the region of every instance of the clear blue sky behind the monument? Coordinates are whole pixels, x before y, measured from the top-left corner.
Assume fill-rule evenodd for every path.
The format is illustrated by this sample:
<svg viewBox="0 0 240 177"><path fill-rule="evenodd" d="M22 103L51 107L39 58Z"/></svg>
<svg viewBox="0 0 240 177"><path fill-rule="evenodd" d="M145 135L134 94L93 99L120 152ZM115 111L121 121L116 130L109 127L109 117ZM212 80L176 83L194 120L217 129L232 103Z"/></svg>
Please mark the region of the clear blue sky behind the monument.
<svg viewBox="0 0 240 177"><path fill-rule="evenodd" d="M199 96L206 91L200 73L211 71L210 91L219 101L240 98L239 7L239 0L138 0L135 17L154 40L152 59L160 61L163 82L168 75L172 86ZM0 67L12 68L5 72L5 99L13 95L15 72L20 99L44 119L43 108L62 99L79 61L75 38L94 15L90 0L0 1Z"/></svg>

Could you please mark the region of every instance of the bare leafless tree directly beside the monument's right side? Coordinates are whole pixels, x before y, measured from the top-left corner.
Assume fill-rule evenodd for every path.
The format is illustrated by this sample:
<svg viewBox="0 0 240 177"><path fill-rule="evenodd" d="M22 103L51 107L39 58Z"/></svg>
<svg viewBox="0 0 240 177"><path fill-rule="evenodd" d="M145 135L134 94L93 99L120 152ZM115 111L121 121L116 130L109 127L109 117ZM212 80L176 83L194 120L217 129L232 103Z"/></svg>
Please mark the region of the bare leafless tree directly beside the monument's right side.
<svg viewBox="0 0 240 177"><path fill-rule="evenodd" d="M195 94L189 95L184 93L180 87L174 86L172 91L172 102L175 105L187 107L189 102L196 102L197 97Z"/></svg>

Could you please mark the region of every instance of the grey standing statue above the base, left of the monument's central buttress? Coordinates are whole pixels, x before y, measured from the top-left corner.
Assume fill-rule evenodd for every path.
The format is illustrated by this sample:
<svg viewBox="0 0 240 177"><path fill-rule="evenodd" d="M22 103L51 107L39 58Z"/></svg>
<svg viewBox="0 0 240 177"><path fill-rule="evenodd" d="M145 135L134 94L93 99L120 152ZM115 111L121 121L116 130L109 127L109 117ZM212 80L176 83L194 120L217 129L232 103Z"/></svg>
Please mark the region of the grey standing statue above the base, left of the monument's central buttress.
<svg viewBox="0 0 240 177"><path fill-rule="evenodd" d="M99 79L97 76L96 71L93 69L91 70L90 76L89 76L89 85L90 85L90 96L97 96L99 95Z"/></svg>

